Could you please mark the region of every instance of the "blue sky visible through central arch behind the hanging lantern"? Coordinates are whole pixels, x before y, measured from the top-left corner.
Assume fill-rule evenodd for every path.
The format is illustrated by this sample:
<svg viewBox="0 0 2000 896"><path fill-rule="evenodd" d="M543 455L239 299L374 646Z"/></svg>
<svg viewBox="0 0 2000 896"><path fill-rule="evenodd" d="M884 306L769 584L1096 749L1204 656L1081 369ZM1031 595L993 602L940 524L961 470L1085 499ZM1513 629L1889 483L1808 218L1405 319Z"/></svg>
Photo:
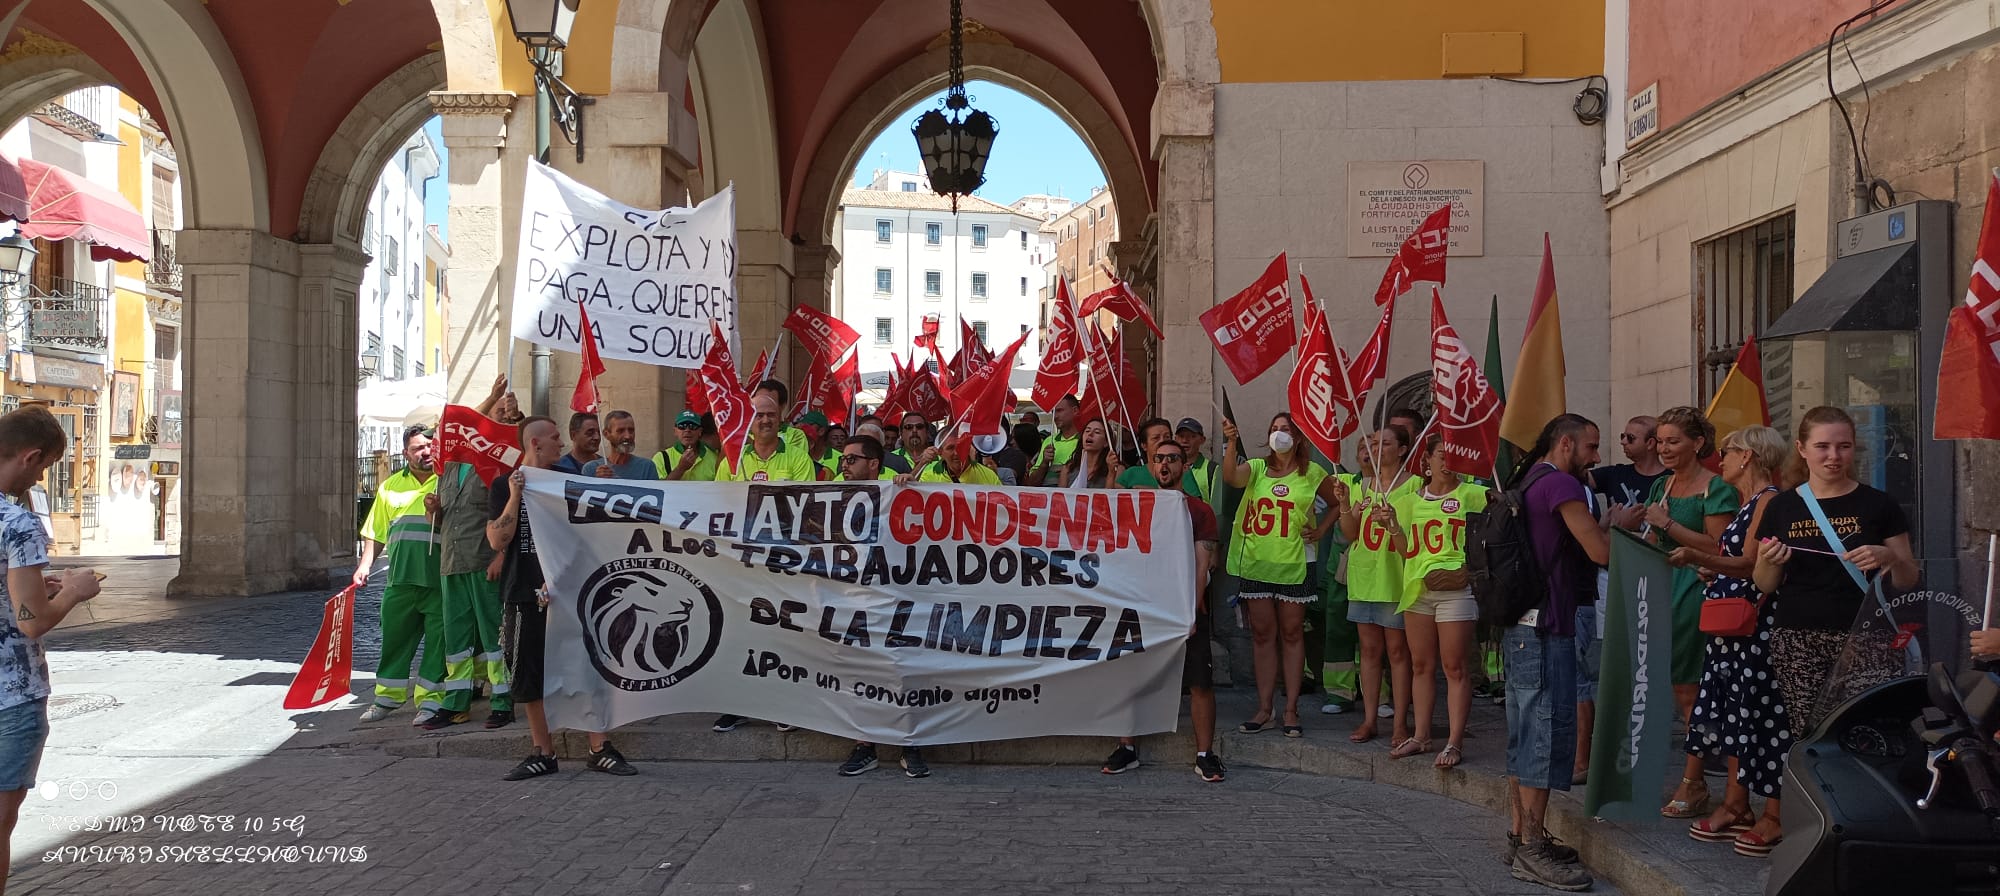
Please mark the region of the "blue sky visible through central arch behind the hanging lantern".
<svg viewBox="0 0 2000 896"><path fill-rule="evenodd" d="M974 108L986 110L1000 122L1000 138L994 140L980 198L1002 206L1036 192L1082 200L1090 198L1090 188L1104 186L1104 170L1098 168L1096 156L1048 106L986 80L968 82L966 92L972 94ZM866 180L876 168L918 170L910 124L924 110L936 108L942 98L940 90L892 116L888 128L868 144L868 152L854 166L854 176Z"/></svg>

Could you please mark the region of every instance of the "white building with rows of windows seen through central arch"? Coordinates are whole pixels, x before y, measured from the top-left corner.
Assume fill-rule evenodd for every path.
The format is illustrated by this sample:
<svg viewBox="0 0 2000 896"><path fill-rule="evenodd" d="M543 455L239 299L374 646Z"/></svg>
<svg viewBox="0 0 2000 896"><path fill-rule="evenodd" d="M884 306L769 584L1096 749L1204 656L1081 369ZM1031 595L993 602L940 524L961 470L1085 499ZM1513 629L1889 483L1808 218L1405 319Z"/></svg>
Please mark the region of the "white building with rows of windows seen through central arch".
<svg viewBox="0 0 2000 896"><path fill-rule="evenodd" d="M862 376L874 382L868 374L888 370L892 352L908 362L926 318L938 322L946 360L964 318L994 352L1028 334L1016 366L1034 364L1040 260L1050 252L1042 220L978 196L960 198L952 214L920 178L886 172L872 186L888 190L842 196L834 312L862 334Z"/></svg>

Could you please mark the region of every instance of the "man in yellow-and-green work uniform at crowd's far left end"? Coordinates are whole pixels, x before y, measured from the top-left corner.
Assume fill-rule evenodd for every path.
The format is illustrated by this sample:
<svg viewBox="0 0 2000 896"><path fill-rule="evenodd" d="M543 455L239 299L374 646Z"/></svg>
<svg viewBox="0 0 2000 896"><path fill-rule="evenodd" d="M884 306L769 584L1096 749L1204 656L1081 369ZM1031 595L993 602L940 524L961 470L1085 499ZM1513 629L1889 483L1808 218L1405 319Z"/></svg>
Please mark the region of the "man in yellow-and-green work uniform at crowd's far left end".
<svg viewBox="0 0 2000 896"><path fill-rule="evenodd" d="M444 704L444 596L438 590L438 536L426 498L438 490L430 468L430 430L410 426L402 434L404 468L376 490L374 508L362 522L362 556L354 568L354 588L368 584L376 552L386 546L388 586L382 590L382 658L376 662L376 702L362 722L380 722L410 700L410 662L418 646L424 660L416 668L416 720L422 726Z"/></svg>

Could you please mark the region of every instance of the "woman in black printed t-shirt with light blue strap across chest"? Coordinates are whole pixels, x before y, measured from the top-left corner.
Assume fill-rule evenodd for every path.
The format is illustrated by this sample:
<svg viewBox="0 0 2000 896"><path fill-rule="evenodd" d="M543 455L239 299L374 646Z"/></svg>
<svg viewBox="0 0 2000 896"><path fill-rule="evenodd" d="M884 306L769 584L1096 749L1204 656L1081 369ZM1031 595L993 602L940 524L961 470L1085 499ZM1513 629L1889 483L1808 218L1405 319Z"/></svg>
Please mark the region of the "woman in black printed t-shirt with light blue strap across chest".
<svg viewBox="0 0 2000 896"><path fill-rule="evenodd" d="M1758 524L1754 578L1776 604L1772 666L1792 736L1804 738L1834 708L1832 702L1822 706L1822 690L1868 598L1848 564L1870 578L1888 572L1898 590L1916 584L1918 566L1910 554L1910 524L1896 498L1854 480L1854 418L1840 408L1808 410L1798 422L1798 458L1804 482L1772 498ZM1806 506L1806 488L1834 526L1844 556L1828 554L1832 540ZM1898 674L1902 652L1890 648L1884 632L1882 644L1854 644L1844 684L1866 688Z"/></svg>

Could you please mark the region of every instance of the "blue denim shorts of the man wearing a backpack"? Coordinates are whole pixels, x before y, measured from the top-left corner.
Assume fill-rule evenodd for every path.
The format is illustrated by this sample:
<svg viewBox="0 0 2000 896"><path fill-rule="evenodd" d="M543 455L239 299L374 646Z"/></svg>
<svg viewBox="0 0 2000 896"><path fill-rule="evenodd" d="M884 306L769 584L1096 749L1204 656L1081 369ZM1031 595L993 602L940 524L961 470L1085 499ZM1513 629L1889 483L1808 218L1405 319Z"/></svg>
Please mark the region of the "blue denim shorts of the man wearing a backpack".
<svg viewBox="0 0 2000 896"><path fill-rule="evenodd" d="M1576 764L1576 644L1534 626L1506 630L1506 774L1570 790Z"/></svg>

